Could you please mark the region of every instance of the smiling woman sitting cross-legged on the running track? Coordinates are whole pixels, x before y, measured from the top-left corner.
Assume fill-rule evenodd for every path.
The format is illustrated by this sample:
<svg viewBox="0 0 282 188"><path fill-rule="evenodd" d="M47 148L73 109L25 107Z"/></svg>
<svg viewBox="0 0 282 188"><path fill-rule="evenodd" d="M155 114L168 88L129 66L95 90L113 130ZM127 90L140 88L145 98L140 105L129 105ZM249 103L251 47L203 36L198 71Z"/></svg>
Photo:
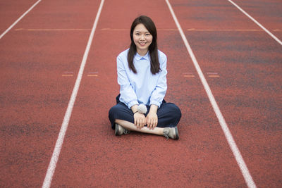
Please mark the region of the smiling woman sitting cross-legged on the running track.
<svg viewBox="0 0 282 188"><path fill-rule="evenodd" d="M175 104L164 101L166 55L157 48L157 29L151 18L136 18L130 39L130 48L117 57L121 89L116 106L109 111L111 127L116 135L137 131L178 139L176 125L181 112ZM143 112L138 108L142 104L147 108Z"/></svg>

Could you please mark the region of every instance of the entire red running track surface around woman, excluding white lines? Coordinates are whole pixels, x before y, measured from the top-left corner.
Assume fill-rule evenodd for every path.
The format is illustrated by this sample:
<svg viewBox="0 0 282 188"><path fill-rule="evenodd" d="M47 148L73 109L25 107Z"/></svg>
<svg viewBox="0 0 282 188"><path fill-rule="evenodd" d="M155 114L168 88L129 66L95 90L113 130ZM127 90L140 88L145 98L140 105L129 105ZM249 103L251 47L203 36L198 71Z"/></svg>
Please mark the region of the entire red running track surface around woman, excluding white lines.
<svg viewBox="0 0 282 188"><path fill-rule="evenodd" d="M1 32L35 3L8 2ZM282 46L228 1L170 2L257 187L281 187ZM280 1L234 2L282 39ZM99 3L42 1L0 39L0 187L42 186ZM178 141L109 125L116 56L141 14L168 56ZM246 187L165 1L105 1L51 186Z"/></svg>

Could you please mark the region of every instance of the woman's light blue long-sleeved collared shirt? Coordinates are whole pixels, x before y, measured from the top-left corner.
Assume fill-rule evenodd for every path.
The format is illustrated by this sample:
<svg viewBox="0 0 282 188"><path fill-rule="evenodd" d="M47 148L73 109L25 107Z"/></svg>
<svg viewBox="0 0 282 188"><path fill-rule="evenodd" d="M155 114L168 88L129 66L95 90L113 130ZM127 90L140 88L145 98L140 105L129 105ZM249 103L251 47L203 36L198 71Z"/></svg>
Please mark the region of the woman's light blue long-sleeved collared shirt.
<svg viewBox="0 0 282 188"><path fill-rule="evenodd" d="M133 63L137 74L128 67L128 49L117 57L118 84L120 84L120 101L128 108L135 104L152 104L161 106L166 94L166 55L159 52L161 70L153 75L151 73L149 52L145 56L136 53Z"/></svg>

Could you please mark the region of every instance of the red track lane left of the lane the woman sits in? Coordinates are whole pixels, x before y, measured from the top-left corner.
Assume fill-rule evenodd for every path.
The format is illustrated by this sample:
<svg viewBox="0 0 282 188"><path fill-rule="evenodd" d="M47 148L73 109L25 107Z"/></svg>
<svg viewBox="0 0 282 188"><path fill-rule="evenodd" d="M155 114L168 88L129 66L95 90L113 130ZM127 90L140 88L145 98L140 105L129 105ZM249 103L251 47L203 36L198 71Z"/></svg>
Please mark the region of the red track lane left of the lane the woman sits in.
<svg viewBox="0 0 282 188"><path fill-rule="evenodd" d="M36 23L51 15L46 28L80 28L68 20L80 17L73 7L91 27L98 4L80 4L44 1L17 27L42 28ZM14 30L1 40L1 187L42 186L88 37L89 31Z"/></svg>

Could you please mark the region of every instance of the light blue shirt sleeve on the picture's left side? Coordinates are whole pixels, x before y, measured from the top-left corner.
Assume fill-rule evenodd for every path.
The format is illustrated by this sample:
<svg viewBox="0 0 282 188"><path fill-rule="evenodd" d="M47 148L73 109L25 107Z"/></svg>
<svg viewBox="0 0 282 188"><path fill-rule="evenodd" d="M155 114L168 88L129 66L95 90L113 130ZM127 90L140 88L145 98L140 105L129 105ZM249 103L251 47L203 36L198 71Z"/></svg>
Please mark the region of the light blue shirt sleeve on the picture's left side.
<svg viewBox="0 0 282 188"><path fill-rule="evenodd" d="M116 62L118 71L118 84L121 86L120 101L128 106L128 108L131 108L131 106L139 103L137 101L137 96L133 90L133 87L128 79L128 74L126 73L125 64L128 64L128 61L125 61L125 58L122 56L118 56Z"/></svg>

